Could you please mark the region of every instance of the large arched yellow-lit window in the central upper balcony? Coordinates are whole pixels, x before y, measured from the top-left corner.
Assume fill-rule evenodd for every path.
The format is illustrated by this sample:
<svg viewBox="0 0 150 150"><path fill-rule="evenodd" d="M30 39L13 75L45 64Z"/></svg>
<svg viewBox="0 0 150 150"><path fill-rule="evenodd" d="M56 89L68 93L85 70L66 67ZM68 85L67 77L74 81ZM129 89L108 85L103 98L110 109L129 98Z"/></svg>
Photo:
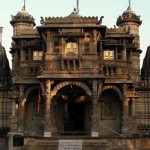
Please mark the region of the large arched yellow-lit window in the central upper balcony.
<svg viewBox="0 0 150 150"><path fill-rule="evenodd" d="M78 54L78 45L76 42L68 42L66 44L65 54Z"/></svg>

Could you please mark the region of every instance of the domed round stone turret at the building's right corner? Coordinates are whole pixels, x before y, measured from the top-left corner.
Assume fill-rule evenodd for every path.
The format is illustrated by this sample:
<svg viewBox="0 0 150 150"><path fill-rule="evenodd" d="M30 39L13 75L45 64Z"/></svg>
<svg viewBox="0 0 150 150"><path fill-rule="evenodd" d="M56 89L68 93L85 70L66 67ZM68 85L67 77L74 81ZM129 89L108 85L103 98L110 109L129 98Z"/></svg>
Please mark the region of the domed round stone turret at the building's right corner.
<svg viewBox="0 0 150 150"><path fill-rule="evenodd" d="M126 32L134 36L134 40L129 47L128 51L132 53L132 73L131 77L134 82L139 82L140 80L140 37L139 37L139 26L142 21L140 16L137 16L136 13L131 10L131 4L129 1L129 6L126 11L122 13L121 16L117 19L117 26L125 28Z"/></svg>

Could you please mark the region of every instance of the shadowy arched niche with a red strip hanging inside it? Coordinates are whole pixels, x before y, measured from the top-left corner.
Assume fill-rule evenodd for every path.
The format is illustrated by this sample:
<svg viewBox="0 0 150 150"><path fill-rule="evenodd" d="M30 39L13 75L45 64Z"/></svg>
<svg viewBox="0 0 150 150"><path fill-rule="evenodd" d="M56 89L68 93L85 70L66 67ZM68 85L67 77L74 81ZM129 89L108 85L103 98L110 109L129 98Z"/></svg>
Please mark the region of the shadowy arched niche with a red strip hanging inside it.
<svg viewBox="0 0 150 150"><path fill-rule="evenodd" d="M25 133L42 135L44 132L45 99L38 86L30 87L25 93L24 108Z"/></svg>

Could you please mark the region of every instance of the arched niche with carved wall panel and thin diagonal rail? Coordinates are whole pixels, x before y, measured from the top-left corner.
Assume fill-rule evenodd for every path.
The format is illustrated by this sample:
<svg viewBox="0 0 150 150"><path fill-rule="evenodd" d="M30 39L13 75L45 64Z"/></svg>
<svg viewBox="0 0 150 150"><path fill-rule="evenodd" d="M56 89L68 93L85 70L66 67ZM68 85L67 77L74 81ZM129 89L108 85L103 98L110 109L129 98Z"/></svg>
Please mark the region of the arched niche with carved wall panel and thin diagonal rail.
<svg viewBox="0 0 150 150"><path fill-rule="evenodd" d="M115 132L121 133L123 105L120 89L116 86L105 86L102 89L98 108L99 133L104 136L116 135Z"/></svg>

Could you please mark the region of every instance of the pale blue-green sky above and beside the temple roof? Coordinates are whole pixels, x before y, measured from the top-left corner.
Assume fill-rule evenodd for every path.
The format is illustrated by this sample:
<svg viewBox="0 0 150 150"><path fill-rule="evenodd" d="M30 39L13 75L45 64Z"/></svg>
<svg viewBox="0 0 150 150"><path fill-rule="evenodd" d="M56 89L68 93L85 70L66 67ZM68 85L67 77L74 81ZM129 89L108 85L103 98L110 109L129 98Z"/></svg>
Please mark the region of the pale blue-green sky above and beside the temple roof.
<svg viewBox="0 0 150 150"><path fill-rule="evenodd" d="M35 18L37 26L40 17L65 17L76 7L77 0L25 0L26 10ZM2 45L6 49L11 66L11 37L13 28L10 25L11 15L16 15L24 5L24 0L0 0L0 27L3 27ZM102 25L114 27L119 15L127 9L129 0L79 0L79 13L82 16L104 16ZM141 66L147 47L150 45L150 0L131 0L131 9L141 16L140 26Z"/></svg>

